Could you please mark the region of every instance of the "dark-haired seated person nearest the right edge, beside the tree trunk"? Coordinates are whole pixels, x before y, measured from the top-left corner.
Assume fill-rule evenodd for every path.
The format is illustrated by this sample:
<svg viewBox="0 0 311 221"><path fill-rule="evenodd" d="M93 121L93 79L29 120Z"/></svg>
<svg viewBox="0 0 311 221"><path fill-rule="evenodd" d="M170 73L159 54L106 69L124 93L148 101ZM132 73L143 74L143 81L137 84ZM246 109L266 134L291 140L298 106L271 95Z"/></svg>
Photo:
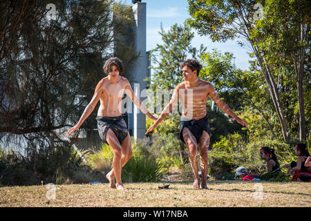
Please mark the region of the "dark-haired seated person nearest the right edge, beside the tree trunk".
<svg viewBox="0 0 311 221"><path fill-rule="evenodd" d="M294 155L298 156L297 162L285 164L285 167L288 167L288 175L293 176L292 180L310 182L311 169L309 164L305 166L310 153L305 144L296 144Z"/></svg>

